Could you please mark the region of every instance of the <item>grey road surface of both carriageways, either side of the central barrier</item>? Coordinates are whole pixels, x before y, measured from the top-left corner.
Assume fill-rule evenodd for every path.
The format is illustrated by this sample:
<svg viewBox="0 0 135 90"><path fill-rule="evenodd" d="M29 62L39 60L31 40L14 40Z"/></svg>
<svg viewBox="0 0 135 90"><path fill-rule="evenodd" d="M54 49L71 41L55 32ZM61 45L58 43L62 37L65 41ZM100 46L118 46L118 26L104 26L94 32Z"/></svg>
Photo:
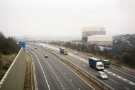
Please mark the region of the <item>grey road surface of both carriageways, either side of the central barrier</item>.
<svg viewBox="0 0 135 90"><path fill-rule="evenodd" d="M34 49L34 47L36 47L37 49ZM69 53L69 55L60 55L57 50L52 50L51 52L79 66L82 70L88 72L89 74L94 75L96 79L110 86L114 90L135 90L135 77L133 76L133 74L128 74L127 71L124 72L120 69L117 69L117 67L112 66L111 68L104 70L108 74L109 79L101 80L97 77L97 71L89 67L86 56L82 58L80 57L81 55L74 55L71 52ZM38 88L40 88L39 90L44 90L46 87L51 88L51 90L92 89L91 86L88 86L86 83L84 83L72 72L72 70L70 70L66 65L60 62L59 58L51 54L46 47L34 44L30 45L29 51L32 54L33 61L35 63ZM48 59L44 58L45 54L49 55ZM38 61L41 63L43 69L41 69ZM46 75L43 75L43 72ZM43 79L45 76L48 83L46 83L45 79Z"/></svg>

